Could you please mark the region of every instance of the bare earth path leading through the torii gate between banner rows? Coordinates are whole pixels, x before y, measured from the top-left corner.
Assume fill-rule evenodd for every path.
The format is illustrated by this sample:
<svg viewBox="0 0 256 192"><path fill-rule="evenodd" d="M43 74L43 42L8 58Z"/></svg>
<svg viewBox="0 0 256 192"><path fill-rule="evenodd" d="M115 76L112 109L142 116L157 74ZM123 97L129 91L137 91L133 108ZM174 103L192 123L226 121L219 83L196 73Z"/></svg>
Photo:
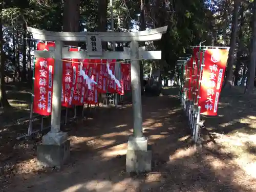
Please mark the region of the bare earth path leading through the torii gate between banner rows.
<svg viewBox="0 0 256 192"><path fill-rule="evenodd" d="M177 91L143 98L143 128L153 149L151 173L125 173L126 142L133 128L132 106L125 105L100 109L92 119L72 127L71 161L62 170L40 172L33 156L17 166L20 172L4 191L256 191L256 178L230 153L213 153L209 143L189 146Z"/></svg>

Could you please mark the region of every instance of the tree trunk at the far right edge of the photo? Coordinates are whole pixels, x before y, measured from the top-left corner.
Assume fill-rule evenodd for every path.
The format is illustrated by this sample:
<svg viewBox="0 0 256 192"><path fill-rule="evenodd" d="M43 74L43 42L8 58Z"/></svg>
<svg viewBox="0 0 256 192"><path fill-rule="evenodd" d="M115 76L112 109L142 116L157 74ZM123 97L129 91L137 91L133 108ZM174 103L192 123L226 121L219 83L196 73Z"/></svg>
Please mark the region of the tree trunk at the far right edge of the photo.
<svg viewBox="0 0 256 192"><path fill-rule="evenodd" d="M253 2L252 10L253 10L252 38L251 38L250 63L248 66L247 93L251 93L254 87L255 62L256 62L256 1Z"/></svg>

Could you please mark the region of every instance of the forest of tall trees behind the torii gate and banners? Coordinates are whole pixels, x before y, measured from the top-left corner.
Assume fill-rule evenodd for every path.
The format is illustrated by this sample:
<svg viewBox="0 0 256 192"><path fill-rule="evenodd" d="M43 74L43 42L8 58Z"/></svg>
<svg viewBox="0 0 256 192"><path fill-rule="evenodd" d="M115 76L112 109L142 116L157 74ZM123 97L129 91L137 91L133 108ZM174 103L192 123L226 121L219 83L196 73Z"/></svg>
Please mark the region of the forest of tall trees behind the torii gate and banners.
<svg viewBox="0 0 256 192"><path fill-rule="evenodd" d="M9 106L5 84L32 85L35 41L27 27L49 31L111 31L108 0L1 0L0 102ZM153 29L168 25L160 41L147 50L162 50L162 60L142 62L142 74L158 68L162 78L174 74L176 61L191 53L189 46L230 47L225 87L254 87L256 61L256 1L251 0L113 0L115 31ZM83 43L73 43L86 49ZM117 51L127 46L117 42ZM103 49L111 49L104 44ZM248 80L246 80L248 79Z"/></svg>

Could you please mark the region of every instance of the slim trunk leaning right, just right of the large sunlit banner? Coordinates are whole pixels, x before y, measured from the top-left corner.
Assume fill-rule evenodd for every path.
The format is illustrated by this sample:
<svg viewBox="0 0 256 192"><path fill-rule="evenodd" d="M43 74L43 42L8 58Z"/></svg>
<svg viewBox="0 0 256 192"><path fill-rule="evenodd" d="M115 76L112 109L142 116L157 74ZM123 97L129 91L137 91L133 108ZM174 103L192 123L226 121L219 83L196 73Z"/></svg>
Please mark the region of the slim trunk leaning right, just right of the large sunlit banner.
<svg viewBox="0 0 256 192"><path fill-rule="evenodd" d="M241 56L243 53L243 48L244 48L244 42L243 42L243 26L244 26L244 4L242 4L241 9L240 9L240 28L238 32L238 53L237 53L237 62L236 62L236 70L234 70L234 86L238 85L238 80L240 78L239 76L239 71L241 68Z"/></svg>

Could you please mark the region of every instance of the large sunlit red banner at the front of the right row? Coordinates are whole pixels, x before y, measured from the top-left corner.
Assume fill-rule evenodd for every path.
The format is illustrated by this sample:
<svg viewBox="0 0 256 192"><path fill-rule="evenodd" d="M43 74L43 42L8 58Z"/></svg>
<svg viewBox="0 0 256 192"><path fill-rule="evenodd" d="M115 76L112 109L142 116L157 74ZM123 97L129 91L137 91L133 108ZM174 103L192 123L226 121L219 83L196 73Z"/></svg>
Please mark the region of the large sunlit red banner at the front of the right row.
<svg viewBox="0 0 256 192"><path fill-rule="evenodd" d="M204 53L204 67L199 90L201 114L216 116L225 74L228 50L208 49Z"/></svg>

